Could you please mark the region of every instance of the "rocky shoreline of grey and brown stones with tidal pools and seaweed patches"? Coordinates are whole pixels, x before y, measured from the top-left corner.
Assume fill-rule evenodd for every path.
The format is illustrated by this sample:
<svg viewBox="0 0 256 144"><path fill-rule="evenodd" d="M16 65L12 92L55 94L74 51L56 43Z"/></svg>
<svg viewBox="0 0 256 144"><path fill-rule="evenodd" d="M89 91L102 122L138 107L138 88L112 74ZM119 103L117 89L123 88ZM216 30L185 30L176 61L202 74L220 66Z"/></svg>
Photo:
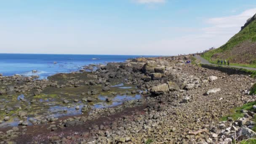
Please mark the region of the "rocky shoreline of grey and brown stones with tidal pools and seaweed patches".
<svg viewBox="0 0 256 144"><path fill-rule="evenodd" d="M187 59L108 63L48 80L0 76L0 95L6 98L1 101L1 123L20 120L19 126L0 128L0 143L229 144L237 137L256 136L250 129L251 111L238 120L219 121L230 109L256 101L248 95L256 80L185 65ZM14 99L17 94L24 97ZM131 99L115 106L111 103L117 95ZM109 107L97 108L97 103ZM42 113L53 105L62 109L57 114L72 111L68 107L76 111L60 117Z"/></svg>

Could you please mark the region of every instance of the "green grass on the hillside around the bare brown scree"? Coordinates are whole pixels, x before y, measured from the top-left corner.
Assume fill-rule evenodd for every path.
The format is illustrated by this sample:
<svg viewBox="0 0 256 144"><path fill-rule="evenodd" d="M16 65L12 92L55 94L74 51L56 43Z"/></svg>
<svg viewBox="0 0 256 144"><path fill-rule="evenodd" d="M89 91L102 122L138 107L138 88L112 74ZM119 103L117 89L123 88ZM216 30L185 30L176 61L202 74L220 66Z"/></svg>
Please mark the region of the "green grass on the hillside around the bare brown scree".
<svg viewBox="0 0 256 144"><path fill-rule="evenodd" d="M230 40L222 45L220 48L208 51L202 55L204 59L207 59L210 63L216 64L217 60L212 60L212 56L215 53L222 53L224 51L229 51L236 45L239 45L240 43L243 43L245 41L256 41L256 20L252 21L247 27L245 27L242 31L238 32L236 35L234 35ZM229 57L229 59L232 58L232 56ZM221 58L220 58L221 59ZM228 60L228 59L227 59ZM253 64L254 63L254 64ZM246 67L256 67L256 61L254 61L252 64L246 64ZM244 64L238 64L239 66L242 66Z"/></svg>

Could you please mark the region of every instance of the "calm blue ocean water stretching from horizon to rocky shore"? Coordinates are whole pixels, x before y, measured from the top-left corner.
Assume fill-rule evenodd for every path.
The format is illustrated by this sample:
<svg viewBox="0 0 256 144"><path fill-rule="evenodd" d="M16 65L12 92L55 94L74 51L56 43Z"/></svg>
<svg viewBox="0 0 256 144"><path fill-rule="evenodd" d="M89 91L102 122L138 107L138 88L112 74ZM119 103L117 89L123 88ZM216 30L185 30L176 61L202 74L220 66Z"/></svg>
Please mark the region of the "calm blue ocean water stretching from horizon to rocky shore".
<svg viewBox="0 0 256 144"><path fill-rule="evenodd" d="M138 56L0 53L0 73L5 76L20 74L39 75L40 78L47 78L60 72L77 71L88 64L122 62L136 57ZM54 61L57 63L54 64ZM32 70L37 70L37 73L32 73Z"/></svg>

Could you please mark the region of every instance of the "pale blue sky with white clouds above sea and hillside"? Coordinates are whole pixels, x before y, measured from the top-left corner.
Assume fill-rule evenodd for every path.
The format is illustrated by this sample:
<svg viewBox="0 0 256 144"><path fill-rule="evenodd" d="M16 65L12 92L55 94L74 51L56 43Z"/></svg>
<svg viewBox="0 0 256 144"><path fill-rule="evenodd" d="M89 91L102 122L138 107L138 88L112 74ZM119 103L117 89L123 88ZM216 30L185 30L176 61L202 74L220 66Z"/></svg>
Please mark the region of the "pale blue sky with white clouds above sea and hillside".
<svg viewBox="0 0 256 144"><path fill-rule="evenodd" d="M255 13L255 0L0 0L0 53L196 53Z"/></svg>

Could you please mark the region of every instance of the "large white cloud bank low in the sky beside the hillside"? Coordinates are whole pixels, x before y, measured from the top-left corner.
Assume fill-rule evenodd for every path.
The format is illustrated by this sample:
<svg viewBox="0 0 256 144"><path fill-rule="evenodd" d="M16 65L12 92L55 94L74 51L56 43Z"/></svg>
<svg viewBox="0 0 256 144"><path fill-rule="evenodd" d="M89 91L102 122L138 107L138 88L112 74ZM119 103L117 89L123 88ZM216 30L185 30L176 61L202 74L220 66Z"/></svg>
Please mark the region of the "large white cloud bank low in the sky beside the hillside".
<svg viewBox="0 0 256 144"><path fill-rule="evenodd" d="M200 52L211 47L218 48L239 32L246 20L255 13L256 8L253 8L237 15L209 18L202 21L202 23L209 25L203 28L168 28L174 33L182 32L183 36L155 40L138 45L137 49L147 49L148 54L160 55L165 53L165 55L177 55Z"/></svg>

